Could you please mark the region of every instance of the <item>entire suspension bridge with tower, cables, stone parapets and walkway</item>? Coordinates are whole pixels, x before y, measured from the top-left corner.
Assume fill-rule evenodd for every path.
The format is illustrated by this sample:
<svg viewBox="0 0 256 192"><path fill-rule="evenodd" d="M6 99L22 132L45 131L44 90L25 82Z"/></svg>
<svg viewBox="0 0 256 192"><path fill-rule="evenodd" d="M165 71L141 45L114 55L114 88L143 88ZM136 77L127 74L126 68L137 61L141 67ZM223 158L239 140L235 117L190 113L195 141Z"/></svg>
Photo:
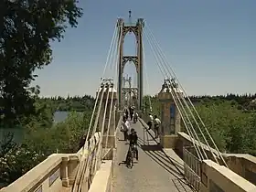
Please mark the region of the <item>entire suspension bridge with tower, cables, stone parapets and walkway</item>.
<svg viewBox="0 0 256 192"><path fill-rule="evenodd" d="M131 13L130 13L131 14ZM123 55L123 39L133 33L136 55ZM160 135L148 129L144 104L144 75L148 86L146 40L164 79L159 85ZM137 86L123 77L132 62ZM129 87L125 87L129 82ZM162 87L161 87L162 86ZM148 86L149 87L149 86ZM256 159L219 151L187 91L171 69L164 51L143 18L125 23L118 18L84 145L76 154L54 154L1 192L72 191L256 191ZM139 121L131 123L138 133L139 159L125 166L128 144L123 141L123 110L133 105Z"/></svg>

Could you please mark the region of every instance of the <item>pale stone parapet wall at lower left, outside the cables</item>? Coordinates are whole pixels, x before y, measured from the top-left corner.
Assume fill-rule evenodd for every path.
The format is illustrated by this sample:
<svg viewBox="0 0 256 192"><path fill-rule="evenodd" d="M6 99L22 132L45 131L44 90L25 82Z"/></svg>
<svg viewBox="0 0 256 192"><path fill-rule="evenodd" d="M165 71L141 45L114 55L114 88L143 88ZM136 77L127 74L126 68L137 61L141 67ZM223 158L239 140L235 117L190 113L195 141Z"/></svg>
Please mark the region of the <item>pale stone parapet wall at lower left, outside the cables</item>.
<svg viewBox="0 0 256 192"><path fill-rule="evenodd" d="M99 143L101 133L95 133L90 139L91 148ZM85 144L87 148L88 144ZM43 162L29 170L24 176L18 178L1 192L20 191L63 191L73 185L82 148L76 154L53 154L49 155Z"/></svg>

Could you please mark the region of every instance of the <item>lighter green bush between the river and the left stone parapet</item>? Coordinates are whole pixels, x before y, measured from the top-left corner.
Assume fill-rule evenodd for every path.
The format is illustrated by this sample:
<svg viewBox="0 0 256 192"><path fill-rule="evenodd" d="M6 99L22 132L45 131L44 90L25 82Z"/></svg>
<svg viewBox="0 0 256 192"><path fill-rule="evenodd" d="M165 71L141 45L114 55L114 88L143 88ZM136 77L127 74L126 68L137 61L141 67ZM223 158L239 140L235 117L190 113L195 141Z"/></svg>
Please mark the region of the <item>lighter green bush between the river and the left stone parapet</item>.
<svg viewBox="0 0 256 192"><path fill-rule="evenodd" d="M90 117L88 117L90 118ZM47 155L56 153L74 153L78 150L81 136L85 133L88 124L83 115L78 112L70 112L68 118L48 129L38 129L27 133L25 144L31 149ZM84 129L82 129L84 128Z"/></svg>

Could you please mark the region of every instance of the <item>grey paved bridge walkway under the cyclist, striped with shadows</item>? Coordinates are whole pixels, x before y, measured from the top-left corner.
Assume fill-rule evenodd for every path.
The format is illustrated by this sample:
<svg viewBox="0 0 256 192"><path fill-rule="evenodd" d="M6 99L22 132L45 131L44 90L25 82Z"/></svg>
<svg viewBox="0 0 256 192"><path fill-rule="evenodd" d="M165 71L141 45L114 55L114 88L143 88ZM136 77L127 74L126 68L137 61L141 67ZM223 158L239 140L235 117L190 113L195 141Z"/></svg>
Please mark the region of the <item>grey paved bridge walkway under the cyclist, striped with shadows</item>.
<svg viewBox="0 0 256 192"><path fill-rule="evenodd" d="M141 123L131 123L139 137L139 161L127 168L125 159L128 144L123 133L118 132L117 159L114 166L113 192L190 192L183 177L180 159L162 150L154 139L153 131L147 131Z"/></svg>

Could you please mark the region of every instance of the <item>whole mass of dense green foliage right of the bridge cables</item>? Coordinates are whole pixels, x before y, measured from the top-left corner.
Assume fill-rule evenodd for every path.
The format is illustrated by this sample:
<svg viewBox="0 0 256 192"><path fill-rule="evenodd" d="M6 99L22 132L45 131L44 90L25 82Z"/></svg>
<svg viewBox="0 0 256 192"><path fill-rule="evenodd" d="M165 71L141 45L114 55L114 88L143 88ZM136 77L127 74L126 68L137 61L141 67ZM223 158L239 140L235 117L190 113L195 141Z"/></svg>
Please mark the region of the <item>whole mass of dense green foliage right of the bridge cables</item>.
<svg viewBox="0 0 256 192"><path fill-rule="evenodd" d="M256 116L239 106L236 101L202 101L197 112L222 152L256 155Z"/></svg>

